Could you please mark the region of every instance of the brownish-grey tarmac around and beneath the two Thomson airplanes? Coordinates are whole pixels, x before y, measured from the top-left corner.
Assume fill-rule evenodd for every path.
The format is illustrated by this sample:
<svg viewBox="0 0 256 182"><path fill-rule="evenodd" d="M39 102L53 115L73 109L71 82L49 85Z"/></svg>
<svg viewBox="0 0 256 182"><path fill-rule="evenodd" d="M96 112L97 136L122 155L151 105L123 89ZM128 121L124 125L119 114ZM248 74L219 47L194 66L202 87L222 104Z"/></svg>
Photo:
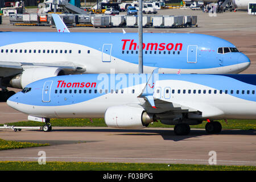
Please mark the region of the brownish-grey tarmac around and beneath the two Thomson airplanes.
<svg viewBox="0 0 256 182"><path fill-rule="evenodd" d="M29 11L36 11L29 10ZM225 12L216 17L202 11L159 10L160 15L197 15L198 27L144 28L144 33L207 34L228 40L251 60L243 74L256 73L256 16L245 11ZM137 32L137 28L123 28ZM69 27L71 32L122 32L122 28ZM13 26L3 18L0 31L51 31L44 26ZM207 40L205 40L207 41ZM18 89L11 89L18 91ZM0 102L0 123L26 121L27 115ZM0 151L0 160L38 161L45 151L47 161L125 162L166 164L209 164L210 151L216 152L217 165L256 166L255 130L223 130L208 135L192 129L187 136L176 136L173 129L110 129L105 127L54 127L51 132L0 129L0 138L49 143L51 146Z"/></svg>

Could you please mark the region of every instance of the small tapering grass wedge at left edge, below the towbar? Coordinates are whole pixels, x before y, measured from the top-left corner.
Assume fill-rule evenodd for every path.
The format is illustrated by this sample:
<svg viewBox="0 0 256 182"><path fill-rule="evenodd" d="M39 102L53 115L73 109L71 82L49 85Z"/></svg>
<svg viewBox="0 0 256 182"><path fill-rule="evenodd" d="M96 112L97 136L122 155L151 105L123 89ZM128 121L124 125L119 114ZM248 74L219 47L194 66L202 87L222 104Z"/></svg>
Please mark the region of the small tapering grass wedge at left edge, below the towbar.
<svg viewBox="0 0 256 182"><path fill-rule="evenodd" d="M10 140L0 139L0 150L9 150L16 148L28 148L28 147L42 147L49 146L48 143L31 143L31 142L16 142Z"/></svg>

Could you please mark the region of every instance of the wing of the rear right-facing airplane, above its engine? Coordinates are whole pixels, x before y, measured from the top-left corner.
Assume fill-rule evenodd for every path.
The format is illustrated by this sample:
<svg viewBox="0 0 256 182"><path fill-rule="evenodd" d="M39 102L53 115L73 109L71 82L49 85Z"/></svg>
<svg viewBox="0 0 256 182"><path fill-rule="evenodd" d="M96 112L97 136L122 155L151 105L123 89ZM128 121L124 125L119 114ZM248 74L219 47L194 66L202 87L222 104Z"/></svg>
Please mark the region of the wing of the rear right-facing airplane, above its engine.
<svg viewBox="0 0 256 182"><path fill-rule="evenodd" d="M56 67L61 68L68 74L85 72L85 67L76 65L72 62L57 62L57 63L26 63L26 62L11 62L0 61L0 77L8 77L22 73L24 69L39 68L39 67Z"/></svg>

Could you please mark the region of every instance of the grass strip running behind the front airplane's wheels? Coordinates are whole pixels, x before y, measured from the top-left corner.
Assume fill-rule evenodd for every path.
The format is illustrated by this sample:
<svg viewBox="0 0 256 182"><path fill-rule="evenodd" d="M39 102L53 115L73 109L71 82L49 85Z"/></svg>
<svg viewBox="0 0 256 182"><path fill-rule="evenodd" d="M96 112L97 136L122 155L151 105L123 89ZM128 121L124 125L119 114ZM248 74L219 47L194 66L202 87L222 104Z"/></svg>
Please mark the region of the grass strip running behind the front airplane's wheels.
<svg viewBox="0 0 256 182"><path fill-rule="evenodd" d="M256 120L250 119L229 119L228 123L223 120L219 120L222 125L222 129L232 129L232 130L256 130ZM91 127L107 127L104 119L93 119L93 122L90 119L81 119L81 118L71 118L71 119L51 119L52 126L75 126L75 127L83 127L83 126L91 126ZM34 121L23 121L23 122L14 122L14 123L6 123L9 126L41 126L44 123L34 122ZM191 125L192 129L204 129L207 124L204 121L200 125ZM164 125L161 122L150 123L148 127L161 127L161 128L170 128L174 127L174 125Z"/></svg>

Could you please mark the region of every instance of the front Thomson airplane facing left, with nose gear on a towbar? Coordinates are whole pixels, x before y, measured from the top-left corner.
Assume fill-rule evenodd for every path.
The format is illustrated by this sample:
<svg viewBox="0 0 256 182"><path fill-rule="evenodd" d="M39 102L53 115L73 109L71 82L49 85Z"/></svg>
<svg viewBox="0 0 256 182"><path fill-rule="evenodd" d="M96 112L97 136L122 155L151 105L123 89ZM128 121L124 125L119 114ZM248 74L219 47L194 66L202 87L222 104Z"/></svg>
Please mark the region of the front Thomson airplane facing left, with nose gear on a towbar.
<svg viewBox="0 0 256 182"><path fill-rule="evenodd" d="M160 121L187 135L189 125L208 121L209 134L220 133L217 119L256 119L256 75L88 74L45 78L28 84L7 100L28 120L104 118L106 125L138 129Z"/></svg>

